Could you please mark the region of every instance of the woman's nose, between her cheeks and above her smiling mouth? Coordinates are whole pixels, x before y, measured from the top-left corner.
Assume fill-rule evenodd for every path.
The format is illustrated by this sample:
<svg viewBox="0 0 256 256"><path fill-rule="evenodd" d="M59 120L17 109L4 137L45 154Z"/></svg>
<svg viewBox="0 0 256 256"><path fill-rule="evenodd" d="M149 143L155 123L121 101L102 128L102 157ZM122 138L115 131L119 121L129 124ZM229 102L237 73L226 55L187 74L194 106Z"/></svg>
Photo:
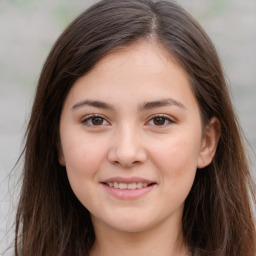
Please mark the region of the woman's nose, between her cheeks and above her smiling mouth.
<svg viewBox="0 0 256 256"><path fill-rule="evenodd" d="M108 152L109 162L131 168L146 161L147 153L136 129L123 127L117 130L113 137Z"/></svg>

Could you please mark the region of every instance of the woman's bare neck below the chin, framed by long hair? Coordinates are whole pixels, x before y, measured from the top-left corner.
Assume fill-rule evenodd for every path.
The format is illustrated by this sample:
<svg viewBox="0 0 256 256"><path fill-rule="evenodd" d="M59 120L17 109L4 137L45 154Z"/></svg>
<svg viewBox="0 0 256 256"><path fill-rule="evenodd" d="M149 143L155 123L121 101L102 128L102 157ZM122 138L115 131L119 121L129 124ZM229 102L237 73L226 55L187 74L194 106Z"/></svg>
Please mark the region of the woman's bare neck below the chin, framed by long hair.
<svg viewBox="0 0 256 256"><path fill-rule="evenodd" d="M141 232L120 232L107 226L94 225L95 244L90 256L185 256L181 227L162 223Z"/></svg>

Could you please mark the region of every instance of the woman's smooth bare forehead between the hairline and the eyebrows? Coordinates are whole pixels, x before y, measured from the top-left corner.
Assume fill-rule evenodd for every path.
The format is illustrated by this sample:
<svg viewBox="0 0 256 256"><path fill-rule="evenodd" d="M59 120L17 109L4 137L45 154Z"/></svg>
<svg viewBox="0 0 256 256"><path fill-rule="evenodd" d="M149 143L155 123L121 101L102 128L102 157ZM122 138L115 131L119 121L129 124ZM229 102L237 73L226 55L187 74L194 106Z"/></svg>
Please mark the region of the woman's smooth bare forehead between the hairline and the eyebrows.
<svg viewBox="0 0 256 256"><path fill-rule="evenodd" d="M187 73L175 58L155 42L139 42L103 57L75 82L68 98L133 104L166 95L195 100Z"/></svg>

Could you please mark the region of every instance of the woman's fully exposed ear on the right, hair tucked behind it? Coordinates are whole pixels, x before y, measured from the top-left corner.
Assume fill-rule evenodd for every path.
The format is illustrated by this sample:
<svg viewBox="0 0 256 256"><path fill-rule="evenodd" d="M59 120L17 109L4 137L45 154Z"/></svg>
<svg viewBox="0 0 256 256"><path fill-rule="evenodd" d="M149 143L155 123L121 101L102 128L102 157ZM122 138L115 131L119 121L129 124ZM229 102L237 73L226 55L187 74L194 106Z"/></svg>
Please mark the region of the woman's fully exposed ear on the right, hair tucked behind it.
<svg viewBox="0 0 256 256"><path fill-rule="evenodd" d="M204 168L212 162L220 138L220 122L213 117L206 125L203 136L201 150L198 156L197 168Z"/></svg>

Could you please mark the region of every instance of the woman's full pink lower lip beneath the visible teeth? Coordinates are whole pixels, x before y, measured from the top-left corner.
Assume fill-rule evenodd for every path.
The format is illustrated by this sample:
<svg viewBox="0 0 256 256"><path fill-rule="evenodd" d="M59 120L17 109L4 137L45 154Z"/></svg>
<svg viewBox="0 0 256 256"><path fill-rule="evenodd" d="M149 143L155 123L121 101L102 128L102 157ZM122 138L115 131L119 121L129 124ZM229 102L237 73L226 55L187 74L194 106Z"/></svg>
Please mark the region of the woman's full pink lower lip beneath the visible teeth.
<svg viewBox="0 0 256 256"><path fill-rule="evenodd" d="M155 186L155 185L150 185L145 188L137 188L137 189L118 189L114 187L109 187L106 184L101 183L106 191L119 198L119 199L136 199L139 198L147 193L149 193Z"/></svg>

